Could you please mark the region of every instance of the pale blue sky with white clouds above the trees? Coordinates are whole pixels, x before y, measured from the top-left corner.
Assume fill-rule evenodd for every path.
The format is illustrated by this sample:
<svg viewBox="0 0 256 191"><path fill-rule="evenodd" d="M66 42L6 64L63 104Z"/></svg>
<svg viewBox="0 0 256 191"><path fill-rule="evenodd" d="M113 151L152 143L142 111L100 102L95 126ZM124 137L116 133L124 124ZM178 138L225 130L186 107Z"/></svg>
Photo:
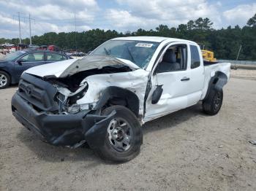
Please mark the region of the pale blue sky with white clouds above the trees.
<svg viewBox="0 0 256 191"><path fill-rule="evenodd" d="M0 0L0 38L18 38L46 32L87 31L93 28L136 31L160 24L208 17L214 28L244 26L256 13L255 0Z"/></svg>

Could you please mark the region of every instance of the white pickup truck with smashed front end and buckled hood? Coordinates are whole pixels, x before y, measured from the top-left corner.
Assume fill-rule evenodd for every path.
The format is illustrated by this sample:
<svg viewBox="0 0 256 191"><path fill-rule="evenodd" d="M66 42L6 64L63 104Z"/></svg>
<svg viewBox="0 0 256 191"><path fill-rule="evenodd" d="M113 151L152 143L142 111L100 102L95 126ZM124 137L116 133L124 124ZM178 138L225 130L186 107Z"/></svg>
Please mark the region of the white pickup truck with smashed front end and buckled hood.
<svg viewBox="0 0 256 191"><path fill-rule="evenodd" d="M195 42L122 37L84 58L25 71L12 113L49 144L88 144L124 162L140 152L143 123L200 101L206 114L217 114L229 78L230 63L204 66Z"/></svg>

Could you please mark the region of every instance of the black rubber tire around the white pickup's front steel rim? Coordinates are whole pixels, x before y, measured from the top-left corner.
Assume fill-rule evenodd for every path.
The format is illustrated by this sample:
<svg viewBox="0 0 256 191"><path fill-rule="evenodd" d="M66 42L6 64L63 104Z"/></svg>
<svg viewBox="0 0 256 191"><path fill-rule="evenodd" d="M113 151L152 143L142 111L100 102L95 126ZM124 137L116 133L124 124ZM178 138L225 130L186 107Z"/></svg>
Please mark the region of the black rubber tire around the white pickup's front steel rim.
<svg viewBox="0 0 256 191"><path fill-rule="evenodd" d="M140 145L143 141L142 131L140 127L140 122L138 122L135 114L133 114L132 111L124 106L110 106L102 111L102 115L108 115L113 112L113 110L116 110L115 118L124 119L128 123L127 125L129 125L129 130L132 131L129 136L131 137L129 141L129 149L125 151L118 151L113 143L110 143L109 131L106 128L107 130L105 136L105 143L102 147L95 149L95 152L97 152L97 155L99 155L99 157L101 157L103 160L108 160L116 163L124 163L132 160L140 153ZM111 126L109 125L108 128L109 127ZM121 125L119 125L119 127L121 127Z"/></svg>

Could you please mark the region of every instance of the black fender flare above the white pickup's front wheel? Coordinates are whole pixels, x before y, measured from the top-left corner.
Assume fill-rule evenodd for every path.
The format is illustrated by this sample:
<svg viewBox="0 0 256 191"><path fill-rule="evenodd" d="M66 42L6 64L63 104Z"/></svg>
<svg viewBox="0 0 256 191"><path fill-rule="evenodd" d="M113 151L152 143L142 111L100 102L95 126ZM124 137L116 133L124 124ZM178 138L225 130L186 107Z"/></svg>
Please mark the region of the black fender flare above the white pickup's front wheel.
<svg viewBox="0 0 256 191"><path fill-rule="evenodd" d="M138 117L140 108L140 101L138 96L130 90L116 86L110 86L103 90L102 95L99 98L99 102L94 109L102 109L102 107L105 106L108 101L113 99L120 99L121 101L125 101L126 103L121 102L120 105L126 104L125 106L127 106L127 108L130 109L136 117Z"/></svg>

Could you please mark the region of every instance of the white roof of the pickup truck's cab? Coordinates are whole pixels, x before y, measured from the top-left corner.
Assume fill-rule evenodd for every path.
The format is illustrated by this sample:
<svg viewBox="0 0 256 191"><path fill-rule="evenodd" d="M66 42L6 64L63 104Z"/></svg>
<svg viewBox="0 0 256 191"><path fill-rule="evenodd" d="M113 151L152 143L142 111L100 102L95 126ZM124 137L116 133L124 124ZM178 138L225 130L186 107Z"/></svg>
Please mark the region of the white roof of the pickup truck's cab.
<svg viewBox="0 0 256 191"><path fill-rule="evenodd" d="M184 39L175 39L162 36L127 36L127 37L118 37L113 40L137 40L137 41L150 41L150 42L163 42L167 40L168 42L192 42ZM195 42L194 42L195 43Z"/></svg>

